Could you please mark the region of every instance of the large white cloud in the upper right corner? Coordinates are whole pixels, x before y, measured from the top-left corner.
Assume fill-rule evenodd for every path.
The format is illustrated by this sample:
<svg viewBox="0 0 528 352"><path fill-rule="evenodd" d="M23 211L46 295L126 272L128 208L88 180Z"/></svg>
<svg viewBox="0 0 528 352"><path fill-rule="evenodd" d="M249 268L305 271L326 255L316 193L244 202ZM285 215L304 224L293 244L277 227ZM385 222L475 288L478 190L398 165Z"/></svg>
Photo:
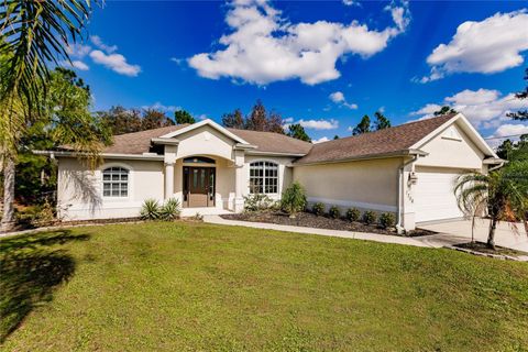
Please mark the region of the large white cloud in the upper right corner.
<svg viewBox="0 0 528 352"><path fill-rule="evenodd" d="M394 15L393 15L394 16ZM440 44L427 57L431 74L419 81L437 80L452 73L499 73L524 63L528 50L526 10L496 13L481 22L459 25L449 44Z"/></svg>

